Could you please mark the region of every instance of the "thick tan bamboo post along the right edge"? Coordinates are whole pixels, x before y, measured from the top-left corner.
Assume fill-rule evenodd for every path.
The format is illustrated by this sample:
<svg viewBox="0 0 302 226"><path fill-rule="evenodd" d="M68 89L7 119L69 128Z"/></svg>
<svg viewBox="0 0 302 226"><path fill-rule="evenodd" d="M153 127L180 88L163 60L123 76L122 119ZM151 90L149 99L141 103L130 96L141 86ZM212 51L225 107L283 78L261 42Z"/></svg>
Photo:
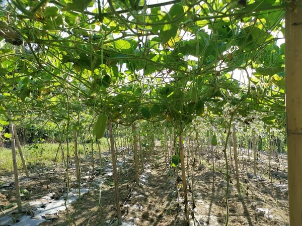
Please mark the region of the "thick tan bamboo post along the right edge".
<svg viewBox="0 0 302 226"><path fill-rule="evenodd" d="M293 3L294 1L292 1ZM300 6L301 0L292 5ZM285 15L285 97L289 224L302 225L302 9Z"/></svg>

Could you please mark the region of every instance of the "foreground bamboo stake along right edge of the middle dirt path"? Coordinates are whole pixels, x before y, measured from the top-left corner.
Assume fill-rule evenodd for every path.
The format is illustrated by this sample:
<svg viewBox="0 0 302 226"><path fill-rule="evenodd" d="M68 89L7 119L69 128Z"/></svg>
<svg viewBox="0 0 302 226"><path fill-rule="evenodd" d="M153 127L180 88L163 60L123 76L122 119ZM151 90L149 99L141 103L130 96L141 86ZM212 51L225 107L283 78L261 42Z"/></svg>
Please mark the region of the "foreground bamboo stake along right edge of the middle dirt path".
<svg viewBox="0 0 302 226"><path fill-rule="evenodd" d="M187 192L187 181L186 181L186 169L185 169L185 158L183 149L183 136L179 136L179 150L180 150L180 163L181 163L181 174L183 182L183 191L185 199L185 223L189 223L189 205L188 205L188 192Z"/></svg>

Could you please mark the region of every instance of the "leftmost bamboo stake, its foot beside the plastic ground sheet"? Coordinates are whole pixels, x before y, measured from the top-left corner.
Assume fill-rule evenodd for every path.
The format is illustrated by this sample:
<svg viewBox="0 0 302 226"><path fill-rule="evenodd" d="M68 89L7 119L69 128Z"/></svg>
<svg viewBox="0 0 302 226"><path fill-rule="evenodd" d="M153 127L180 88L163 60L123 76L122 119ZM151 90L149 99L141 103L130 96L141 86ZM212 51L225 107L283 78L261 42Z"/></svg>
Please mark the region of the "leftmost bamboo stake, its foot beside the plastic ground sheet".
<svg viewBox="0 0 302 226"><path fill-rule="evenodd" d="M10 121L10 133L12 134L12 153L13 153L13 167L14 167L14 175L15 175L15 186L16 186L16 200L18 205L18 212L22 212L22 203L21 203L21 195L20 195L20 185L19 185L19 177L18 177L18 166L17 166L17 159L16 159L16 144L15 144L15 136L14 136L14 129L13 129L13 122L12 116L9 115Z"/></svg>

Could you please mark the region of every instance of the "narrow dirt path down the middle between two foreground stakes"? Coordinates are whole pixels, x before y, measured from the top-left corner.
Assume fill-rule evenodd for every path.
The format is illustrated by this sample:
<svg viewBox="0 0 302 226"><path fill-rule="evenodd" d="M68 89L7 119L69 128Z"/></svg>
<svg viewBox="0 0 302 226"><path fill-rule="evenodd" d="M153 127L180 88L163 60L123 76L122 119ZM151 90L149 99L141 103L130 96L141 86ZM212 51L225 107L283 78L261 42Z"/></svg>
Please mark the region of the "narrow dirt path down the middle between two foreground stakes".
<svg viewBox="0 0 302 226"><path fill-rule="evenodd" d="M134 187L132 197L127 202L129 214L126 221L135 225L174 225L177 215L177 202L171 191L173 179L169 178L169 168L164 157L154 155L146 164L145 173L140 175L140 185Z"/></svg>

